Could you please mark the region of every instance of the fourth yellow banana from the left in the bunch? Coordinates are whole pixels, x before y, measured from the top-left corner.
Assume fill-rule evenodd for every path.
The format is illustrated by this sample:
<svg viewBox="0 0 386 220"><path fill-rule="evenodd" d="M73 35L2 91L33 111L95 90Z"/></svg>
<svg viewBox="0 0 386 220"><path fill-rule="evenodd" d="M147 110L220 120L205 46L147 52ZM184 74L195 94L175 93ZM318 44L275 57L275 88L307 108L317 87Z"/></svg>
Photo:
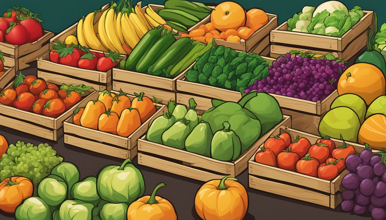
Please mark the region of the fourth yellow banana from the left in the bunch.
<svg viewBox="0 0 386 220"><path fill-rule="evenodd" d="M105 20L106 34L110 42L113 44L117 53L126 54L125 50L122 47L122 44L117 36L117 13L115 13L114 8L108 9Z"/></svg>

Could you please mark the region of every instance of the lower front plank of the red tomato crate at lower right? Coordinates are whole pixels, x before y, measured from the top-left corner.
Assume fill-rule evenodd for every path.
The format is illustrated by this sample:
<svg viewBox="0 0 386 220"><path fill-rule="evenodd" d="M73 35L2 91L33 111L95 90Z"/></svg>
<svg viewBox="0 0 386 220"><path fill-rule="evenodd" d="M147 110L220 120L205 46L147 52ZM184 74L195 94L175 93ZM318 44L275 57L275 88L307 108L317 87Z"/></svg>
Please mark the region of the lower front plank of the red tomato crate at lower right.
<svg viewBox="0 0 386 220"><path fill-rule="evenodd" d="M274 181L263 180L255 176L249 176L249 187L256 190L266 191L269 193L330 207L330 196L312 190L298 188L296 186L285 185L283 183L276 183Z"/></svg>

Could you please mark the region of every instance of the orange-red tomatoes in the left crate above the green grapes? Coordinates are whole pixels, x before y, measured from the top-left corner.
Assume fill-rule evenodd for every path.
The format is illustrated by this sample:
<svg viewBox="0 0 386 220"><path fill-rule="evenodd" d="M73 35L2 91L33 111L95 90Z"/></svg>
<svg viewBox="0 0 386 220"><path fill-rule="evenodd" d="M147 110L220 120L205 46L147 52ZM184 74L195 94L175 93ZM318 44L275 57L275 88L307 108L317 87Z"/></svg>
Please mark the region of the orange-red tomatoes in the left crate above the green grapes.
<svg viewBox="0 0 386 220"><path fill-rule="evenodd" d="M38 79L34 75L19 73L12 88L0 93L0 103L47 117L56 118L81 100L81 94L91 87L66 85L57 86Z"/></svg>

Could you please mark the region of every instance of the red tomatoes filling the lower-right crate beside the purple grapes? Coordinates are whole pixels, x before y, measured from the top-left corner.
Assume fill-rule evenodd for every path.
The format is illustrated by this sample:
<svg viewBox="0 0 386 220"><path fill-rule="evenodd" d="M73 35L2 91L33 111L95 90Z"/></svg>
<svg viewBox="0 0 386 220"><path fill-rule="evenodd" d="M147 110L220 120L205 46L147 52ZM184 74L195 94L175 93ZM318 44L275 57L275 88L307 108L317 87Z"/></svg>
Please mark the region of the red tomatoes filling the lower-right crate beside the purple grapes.
<svg viewBox="0 0 386 220"><path fill-rule="evenodd" d="M288 133L268 138L257 151L255 160L269 166L298 172L323 180L333 180L345 169L344 160L355 155L355 149L345 143L335 147L328 137L320 138L311 144L307 138L296 136L291 141Z"/></svg>

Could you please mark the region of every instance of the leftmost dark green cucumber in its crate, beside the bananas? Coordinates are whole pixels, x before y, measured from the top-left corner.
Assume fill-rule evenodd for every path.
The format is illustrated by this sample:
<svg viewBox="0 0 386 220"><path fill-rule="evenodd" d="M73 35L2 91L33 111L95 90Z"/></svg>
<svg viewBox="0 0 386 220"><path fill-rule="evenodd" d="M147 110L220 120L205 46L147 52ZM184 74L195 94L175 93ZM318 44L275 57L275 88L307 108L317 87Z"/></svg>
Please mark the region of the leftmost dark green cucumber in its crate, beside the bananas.
<svg viewBox="0 0 386 220"><path fill-rule="evenodd" d="M126 70L135 71L135 66L142 55L144 55L145 52L161 37L161 31L162 29L151 29L142 37L126 59Z"/></svg>

